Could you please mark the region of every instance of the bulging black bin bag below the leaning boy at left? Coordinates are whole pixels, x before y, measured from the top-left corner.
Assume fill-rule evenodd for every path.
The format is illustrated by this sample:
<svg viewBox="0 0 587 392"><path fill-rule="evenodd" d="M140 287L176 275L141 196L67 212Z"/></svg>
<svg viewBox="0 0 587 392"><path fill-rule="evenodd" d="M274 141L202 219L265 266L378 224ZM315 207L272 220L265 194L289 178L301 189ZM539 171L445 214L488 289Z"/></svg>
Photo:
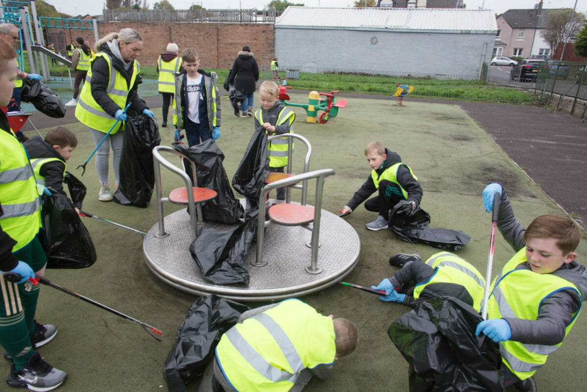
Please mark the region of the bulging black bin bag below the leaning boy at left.
<svg viewBox="0 0 587 392"><path fill-rule="evenodd" d="M66 195L43 195L41 216L47 268L86 268L96 262L92 238Z"/></svg>

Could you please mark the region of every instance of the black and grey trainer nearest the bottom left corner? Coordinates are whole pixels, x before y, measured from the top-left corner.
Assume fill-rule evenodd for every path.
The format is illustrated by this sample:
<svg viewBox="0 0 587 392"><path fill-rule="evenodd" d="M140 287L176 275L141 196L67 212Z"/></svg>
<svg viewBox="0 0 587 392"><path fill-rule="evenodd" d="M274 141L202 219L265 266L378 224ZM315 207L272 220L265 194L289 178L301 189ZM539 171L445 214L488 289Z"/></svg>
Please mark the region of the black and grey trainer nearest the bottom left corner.
<svg viewBox="0 0 587 392"><path fill-rule="evenodd" d="M46 363L41 354L34 353L25 367L16 370L14 363L6 377L6 384L13 388L29 388L32 391L46 392L51 391L68 378L68 374L63 370Z"/></svg>

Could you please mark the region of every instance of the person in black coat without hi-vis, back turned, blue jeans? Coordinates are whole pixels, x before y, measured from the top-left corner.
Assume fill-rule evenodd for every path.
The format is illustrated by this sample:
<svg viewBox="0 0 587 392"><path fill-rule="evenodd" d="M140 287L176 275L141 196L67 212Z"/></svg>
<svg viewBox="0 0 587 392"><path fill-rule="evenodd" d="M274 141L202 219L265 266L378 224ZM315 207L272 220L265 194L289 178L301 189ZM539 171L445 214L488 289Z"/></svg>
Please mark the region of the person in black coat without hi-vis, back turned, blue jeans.
<svg viewBox="0 0 587 392"><path fill-rule="evenodd" d="M253 116L253 93L257 90L257 80L259 80L257 60L253 57L251 49L245 45L238 52L228 77L228 84L234 84L235 89L245 96L245 100L241 103L241 117Z"/></svg>

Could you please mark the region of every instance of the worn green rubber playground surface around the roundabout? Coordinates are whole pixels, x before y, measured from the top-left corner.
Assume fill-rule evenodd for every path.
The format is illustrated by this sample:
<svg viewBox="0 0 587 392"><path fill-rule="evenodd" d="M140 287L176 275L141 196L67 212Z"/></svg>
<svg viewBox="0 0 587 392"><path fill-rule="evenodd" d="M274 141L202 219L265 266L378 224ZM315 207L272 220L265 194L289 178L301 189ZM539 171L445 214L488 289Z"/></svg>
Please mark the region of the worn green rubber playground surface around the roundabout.
<svg viewBox="0 0 587 392"><path fill-rule="evenodd" d="M147 96L141 89L139 92ZM291 94L291 97L296 103L308 100L307 94ZM63 96L63 100L66 102L69 97ZM366 97L347 100L347 107L327 124L307 124L305 111L298 107L293 109L297 114L294 131L312 143L311 169L336 170L336 175L325 183L322 208L337 212L352 197L370 172L363 150L367 143L378 140L397 151L417 175L424 190L421 207L431 215L430 226L459 229L471 236L469 244L456 254L473 263L483 275L491 219L483 209L481 191L488 182L498 180L505 185L517 218L524 225L541 214L563 214L460 107L414 102L409 97L404 99L403 107L395 106L390 100ZM226 96L222 97L222 109L222 133L217 143L225 154L224 168L231 179L254 130L254 120L235 117ZM161 116L160 108L153 111ZM38 127L42 126L40 117L35 119ZM79 138L68 170L79 177L80 171L75 167L86 160L95 146L84 126L75 123L68 127ZM160 131L161 144L170 144L173 130L161 128ZM142 231L153 227L157 220L154 204L140 209L97 201L99 184L93 164L92 159L86 174L80 177L88 188L83 209ZM110 178L113 184L112 170ZM167 192L181 184L167 171L164 171L163 183ZM292 191L292 195L294 200L299 200L299 193ZM179 208L166 204L164 212L171 214ZM375 213L360 206L345 218L356 229L362 245L359 263L346 281L364 286L377 284L396 271L387 263L390 255L419 252L426 259L440 251L400 241L387 230L368 231L365 223L375 217ZM157 343L134 323L45 286L41 290L36 319L41 323L55 323L59 332L39 352L53 366L69 373L60 391L165 391L163 365L174 345L177 328L196 298L153 276L143 261L140 235L95 219L83 218L83 222L96 246L98 260L95 265L82 270L49 270L46 277L162 330L163 342ZM579 262L585 262L586 246L583 238L578 249ZM513 249L498 235L494 275L513 254ZM359 327L361 339L355 353L335 364L333 377L326 381L312 380L305 390L409 390L407 363L386 333L390 323L407 312L408 307L385 303L374 295L342 285L304 296L302 300L325 315L352 320ZM257 305L264 303L249 304ZM579 315L562 348L551 354L536 374L539 390L578 391L584 388L581 371L574 368L575 364L585 363L585 336L587 322L585 315ZM573 371L569 371L571 367ZM2 370L8 373L8 362L4 362ZM189 384L188 391L195 392L197 388L196 381Z"/></svg>

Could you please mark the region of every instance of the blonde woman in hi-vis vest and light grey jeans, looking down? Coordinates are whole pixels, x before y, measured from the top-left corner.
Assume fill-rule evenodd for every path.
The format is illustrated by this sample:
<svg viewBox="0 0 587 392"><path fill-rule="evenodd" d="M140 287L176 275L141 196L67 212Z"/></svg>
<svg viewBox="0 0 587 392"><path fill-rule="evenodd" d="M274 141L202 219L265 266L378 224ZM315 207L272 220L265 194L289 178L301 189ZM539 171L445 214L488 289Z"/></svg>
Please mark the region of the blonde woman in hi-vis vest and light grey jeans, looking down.
<svg viewBox="0 0 587 392"><path fill-rule="evenodd" d="M124 109L127 104L137 113L154 117L152 111L137 95L140 83L139 62L136 57L143 50L143 37L134 29L122 29L109 33L95 45L96 55L90 60L86 83L77 99L75 116L90 128L98 146L96 171L100 180L98 200L111 201L108 181L109 145L112 145L116 186L120 181L120 156L122 156L122 131L128 119ZM113 69L111 73L110 70ZM112 79L111 79L112 76ZM119 132L120 131L120 132ZM108 134L110 132L110 134ZM107 135L107 136L106 136Z"/></svg>

